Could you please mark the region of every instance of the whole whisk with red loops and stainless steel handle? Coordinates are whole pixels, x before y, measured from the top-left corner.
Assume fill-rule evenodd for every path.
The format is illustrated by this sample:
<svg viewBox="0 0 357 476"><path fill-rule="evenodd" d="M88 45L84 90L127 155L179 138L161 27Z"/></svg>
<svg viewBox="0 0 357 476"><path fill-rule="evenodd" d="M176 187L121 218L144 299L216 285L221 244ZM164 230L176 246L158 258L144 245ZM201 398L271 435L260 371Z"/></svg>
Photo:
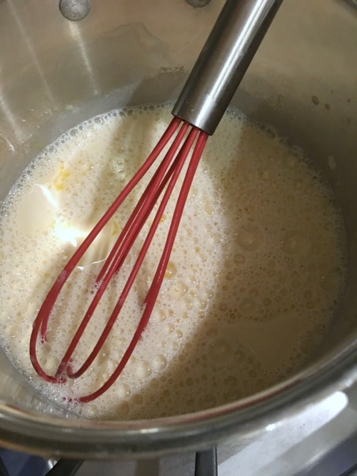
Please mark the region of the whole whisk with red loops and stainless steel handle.
<svg viewBox="0 0 357 476"><path fill-rule="evenodd" d="M169 257L174 245L188 191L193 181L198 162L200 161L203 148L206 145L207 138L213 134L216 126L218 126L223 113L228 107L228 103L238 88L238 84L241 82L281 2L282 0L226 1L191 71L191 75L188 77L186 85L178 97L178 101L172 111L174 118L164 135L156 144L154 150L141 168L139 168L139 171L131 178L99 222L96 223L96 226L94 226L89 235L86 236L83 243L76 249L74 255L71 256L59 274L54 285L49 290L44 303L41 305L39 313L34 320L29 345L31 363L36 373L49 383L64 383L67 378L79 378L89 369L108 338L123 308L126 297L134 284L134 280L141 268L145 255L149 250L151 240L154 238L161 217L164 214L166 205L178 180L178 176L188 160L188 166L186 167L181 191L178 193L178 199L176 201L171 225L169 226L164 250L156 272L154 273L149 291L144 299L144 311L141 315L139 325L123 357L108 380L106 380L104 385L101 385L98 390L89 393L89 395L76 398L79 402L89 402L106 392L124 370L131 354L134 352L136 344L149 322L156 303L166 267L169 263ZM54 375L49 375L39 363L36 348L39 343L46 341L46 332L51 318L51 311L54 308L56 300L59 298L61 289L96 236L99 235L129 193L131 193L133 188L146 175L151 166L153 166L161 152L164 151L164 148L166 148L164 158L161 163L159 163L159 166L149 181L149 185L146 186L143 195L134 207L134 211L131 213L124 228L122 228L116 243L96 277L94 298L91 300L91 303L89 303L84 313L84 318L81 320L81 323L79 323L74 337L64 352L64 356L56 372ZM85 362L82 363L79 368L74 370L72 355L74 355L74 351L77 345L79 345L86 326L89 324L94 310L99 304L111 279L116 273L120 272L129 250L131 250L134 241L139 236L141 229L144 227L155 206L157 206L157 210L149 231L146 234L146 238L144 239L144 244L139 250L136 261L129 273L129 278L121 290L119 299L104 326L104 330L99 336L96 345L94 345L94 348L89 353L88 358L86 358Z"/></svg>

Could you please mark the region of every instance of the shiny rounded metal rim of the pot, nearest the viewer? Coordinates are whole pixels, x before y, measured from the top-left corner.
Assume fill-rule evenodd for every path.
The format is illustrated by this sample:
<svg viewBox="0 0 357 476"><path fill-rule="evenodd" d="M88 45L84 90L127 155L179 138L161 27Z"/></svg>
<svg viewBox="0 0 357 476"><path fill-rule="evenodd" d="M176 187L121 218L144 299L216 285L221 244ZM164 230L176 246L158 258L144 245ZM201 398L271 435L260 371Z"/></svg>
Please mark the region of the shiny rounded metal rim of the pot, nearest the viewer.
<svg viewBox="0 0 357 476"><path fill-rule="evenodd" d="M39 414L0 400L0 442L37 455L145 457L241 440L286 420L357 380L357 342L261 393L200 412L151 420L84 420Z"/></svg>

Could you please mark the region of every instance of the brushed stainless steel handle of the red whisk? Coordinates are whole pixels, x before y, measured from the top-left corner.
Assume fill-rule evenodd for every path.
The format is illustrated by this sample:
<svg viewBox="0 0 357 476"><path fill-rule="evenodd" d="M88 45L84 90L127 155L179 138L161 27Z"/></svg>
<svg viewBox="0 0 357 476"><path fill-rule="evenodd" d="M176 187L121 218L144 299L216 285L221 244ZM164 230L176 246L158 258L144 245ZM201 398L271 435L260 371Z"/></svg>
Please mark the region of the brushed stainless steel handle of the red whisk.
<svg viewBox="0 0 357 476"><path fill-rule="evenodd" d="M283 0L227 0L172 113L213 134Z"/></svg>

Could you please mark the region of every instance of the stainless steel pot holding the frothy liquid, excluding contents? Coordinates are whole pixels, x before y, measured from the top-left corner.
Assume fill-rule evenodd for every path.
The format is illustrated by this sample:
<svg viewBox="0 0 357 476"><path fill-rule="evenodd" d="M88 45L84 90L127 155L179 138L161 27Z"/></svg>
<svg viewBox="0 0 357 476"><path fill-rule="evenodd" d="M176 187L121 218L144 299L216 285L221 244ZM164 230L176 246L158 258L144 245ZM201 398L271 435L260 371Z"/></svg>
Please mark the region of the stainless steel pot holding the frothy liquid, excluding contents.
<svg viewBox="0 0 357 476"><path fill-rule="evenodd" d="M176 98L223 4L93 0L64 19L56 0L0 1L1 197L75 123L124 103ZM76 457L148 455L251 437L357 380L357 14L343 0L285 0L233 102L316 158L346 221L349 276L311 364L260 395L193 415L81 420L36 393L0 355L0 443ZM6 279L6 277L3 277Z"/></svg>

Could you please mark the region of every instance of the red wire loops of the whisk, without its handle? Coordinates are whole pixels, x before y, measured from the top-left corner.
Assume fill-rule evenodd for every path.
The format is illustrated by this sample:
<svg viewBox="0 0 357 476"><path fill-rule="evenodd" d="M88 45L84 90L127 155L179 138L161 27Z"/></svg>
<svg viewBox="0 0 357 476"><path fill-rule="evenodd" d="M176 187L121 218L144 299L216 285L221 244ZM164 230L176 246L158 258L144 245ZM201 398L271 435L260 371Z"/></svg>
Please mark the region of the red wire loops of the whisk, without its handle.
<svg viewBox="0 0 357 476"><path fill-rule="evenodd" d="M90 393L89 395L79 397L77 400L79 400L80 402L89 402L91 400L96 399L104 392L106 392L106 390L108 390L111 385L113 385L115 380L124 370L124 367L128 362L131 354L134 352L134 349L141 337L141 334L143 333L144 329L146 328L146 325L149 322L149 318L154 308L157 295L159 294L161 283L164 279L167 264L169 263L171 250L174 245L174 240L178 230L178 225L181 220L183 208L186 203L188 191L191 187L193 176L196 172L196 168L201 158L203 148L206 145L207 138L208 134L196 128L195 126L191 126L187 122L182 121L180 118L177 117L174 117L172 119L164 135L156 144L156 147L151 152L151 154L146 159L141 168L139 168L139 171L137 171L133 178L131 178L129 183L127 183L127 185L121 191L119 196L108 208L106 213L104 213L104 216L102 216L99 222L96 223L96 226L94 226L89 235L86 236L83 243L81 243L79 248L77 248L77 250L74 252L74 255L72 255L72 257L69 259L68 263L56 279L51 290L49 290L49 293L47 294L44 303L41 305L39 313L36 319L34 320L30 339L30 358L31 363L34 366L34 369L36 370L36 373L38 373L41 378L50 383L64 383L66 381L66 378L81 377L81 375L83 375L86 370L89 369L91 363L94 362L94 359L99 354L101 348L103 347L106 341L106 338L108 338L109 333L111 332L111 329L113 328L114 323L116 322L116 319L119 316L121 309L123 308L124 302L129 294L129 291L131 290L131 287L134 284L136 275L138 274L145 255L149 250L149 246L154 238L156 229L159 226L161 217L164 214L164 210L169 201L171 193L174 190L174 186L176 185L178 176L180 175L187 158L190 157L191 152L191 158L189 159L186 174L183 178L181 191L178 194L176 207L174 209L174 215L171 221L171 225L169 227L169 232L166 237L164 250L161 255L161 259L159 260L159 265L156 268L156 273L151 282L149 291L146 294L146 298L144 300L144 311L141 315L139 325L136 328L136 331L131 339L131 342L129 343L129 346L126 348L123 357L121 358L119 364L116 366L116 369L111 374L109 379L106 380L106 383L104 383L104 385L102 385L95 392ZM91 243L93 243L96 236L99 235L101 230L104 228L104 226L106 226L106 223L108 223L110 218L118 210L119 206L121 206L121 204L124 202L129 193L131 193L133 188L136 187L136 185L149 171L151 166L154 164L160 153L168 145L171 139L172 143L169 147L169 150L164 155L164 158L159 164L159 167L156 169L154 175L149 181L149 184L146 186L144 193L139 199L139 202L136 204L134 211L129 217L129 220L126 222L124 228L121 230L121 233L119 234L116 243L111 249L111 252L106 258L103 267L101 268L99 274L96 277L96 292L94 293L94 298L89 304L86 313L84 314L84 318L81 320L81 323L79 324L79 327L76 330L76 333L74 333L74 337L71 339L69 347L64 353L64 357L59 363L56 373L54 373L54 375L49 375L39 363L36 348L39 344L39 340L41 343L46 342L46 332L49 326L51 311L54 308L56 300L59 298L59 293L61 292L61 289L63 288L66 281L69 279L74 268L76 268L76 266L78 265L84 253L86 253L86 250L88 250ZM161 195L162 198L160 201ZM144 240L144 244L142 245L139 254L136 258L136 261L133 265L133 268L131 269L129 278L128 280L126 280L124 288L121 290L121 295L119 296L119 299L117 300L116 305L114 306L114 310L109 316L109 320L107 321L104 330L99 336L99 339L97 340L96 345L94 345L94 348L91 350L91 353L89 354L88 358L86 358L85 362L82 363L79 368L74 370L74 363L71 361L71 358L74 354L77 345L79 345L79 341L81 340L81 337L84 334L84 331L86 330L86 327L89 324L91 317L94 314L94 310L99 304L99 301L101 300L101 297L103 296L113 276L116 275L116 273L120 272L121 266L123 265L124 260L126 259L126 256L129 253L129 250L131 250L134 241L136 240L141 229L149 218L151 211L153 210L156 203L159 203L159 206L155 213L154 220L151 223L149 231Z"/></svg>

